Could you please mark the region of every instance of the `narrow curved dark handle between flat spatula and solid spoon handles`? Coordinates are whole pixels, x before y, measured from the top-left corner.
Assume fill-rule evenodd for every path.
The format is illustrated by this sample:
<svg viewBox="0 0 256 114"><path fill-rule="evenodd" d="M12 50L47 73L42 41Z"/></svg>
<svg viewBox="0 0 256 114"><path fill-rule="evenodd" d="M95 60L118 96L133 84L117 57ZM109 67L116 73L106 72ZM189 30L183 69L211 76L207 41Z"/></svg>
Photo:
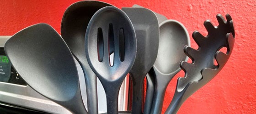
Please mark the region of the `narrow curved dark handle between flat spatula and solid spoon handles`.
<svg viewBox="0 0 256 114"><path fill-rule="evenodd" d="M153 97L155 93L155 72L151 68L149 73L146 75L147 78L147 91L144 104L144 114L149 114L153 103Z"/></svg>

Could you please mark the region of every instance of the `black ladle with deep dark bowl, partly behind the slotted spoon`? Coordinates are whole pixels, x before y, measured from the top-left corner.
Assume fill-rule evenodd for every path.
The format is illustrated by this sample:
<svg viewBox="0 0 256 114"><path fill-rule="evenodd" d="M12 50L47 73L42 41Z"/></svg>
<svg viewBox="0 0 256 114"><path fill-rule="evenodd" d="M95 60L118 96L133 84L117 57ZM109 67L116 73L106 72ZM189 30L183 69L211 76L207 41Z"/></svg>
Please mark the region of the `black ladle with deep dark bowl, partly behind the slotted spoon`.
<svg viewBox="0 0 256 114"><path fill-rule="evenodd" d="M79 61L85 75L89 114L98 114L98 100L96 75L91 70L85 56L85 31L91 17L105 6L111 5L101 1L76 2L67 8L61 21L61 35Z"/></svg>

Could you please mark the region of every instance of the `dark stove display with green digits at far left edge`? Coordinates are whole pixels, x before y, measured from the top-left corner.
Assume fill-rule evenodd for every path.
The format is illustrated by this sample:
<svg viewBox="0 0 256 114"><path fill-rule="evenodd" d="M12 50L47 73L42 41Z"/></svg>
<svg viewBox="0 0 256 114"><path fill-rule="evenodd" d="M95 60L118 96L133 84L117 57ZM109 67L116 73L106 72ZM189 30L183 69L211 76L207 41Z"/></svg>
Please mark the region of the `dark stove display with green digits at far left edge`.
<svg viewBox="0 0 256 114"><path fill-rule="evenodd" d="M0 82L8 82L11 77L11 63L8 57L0 55Z"/></svg>

